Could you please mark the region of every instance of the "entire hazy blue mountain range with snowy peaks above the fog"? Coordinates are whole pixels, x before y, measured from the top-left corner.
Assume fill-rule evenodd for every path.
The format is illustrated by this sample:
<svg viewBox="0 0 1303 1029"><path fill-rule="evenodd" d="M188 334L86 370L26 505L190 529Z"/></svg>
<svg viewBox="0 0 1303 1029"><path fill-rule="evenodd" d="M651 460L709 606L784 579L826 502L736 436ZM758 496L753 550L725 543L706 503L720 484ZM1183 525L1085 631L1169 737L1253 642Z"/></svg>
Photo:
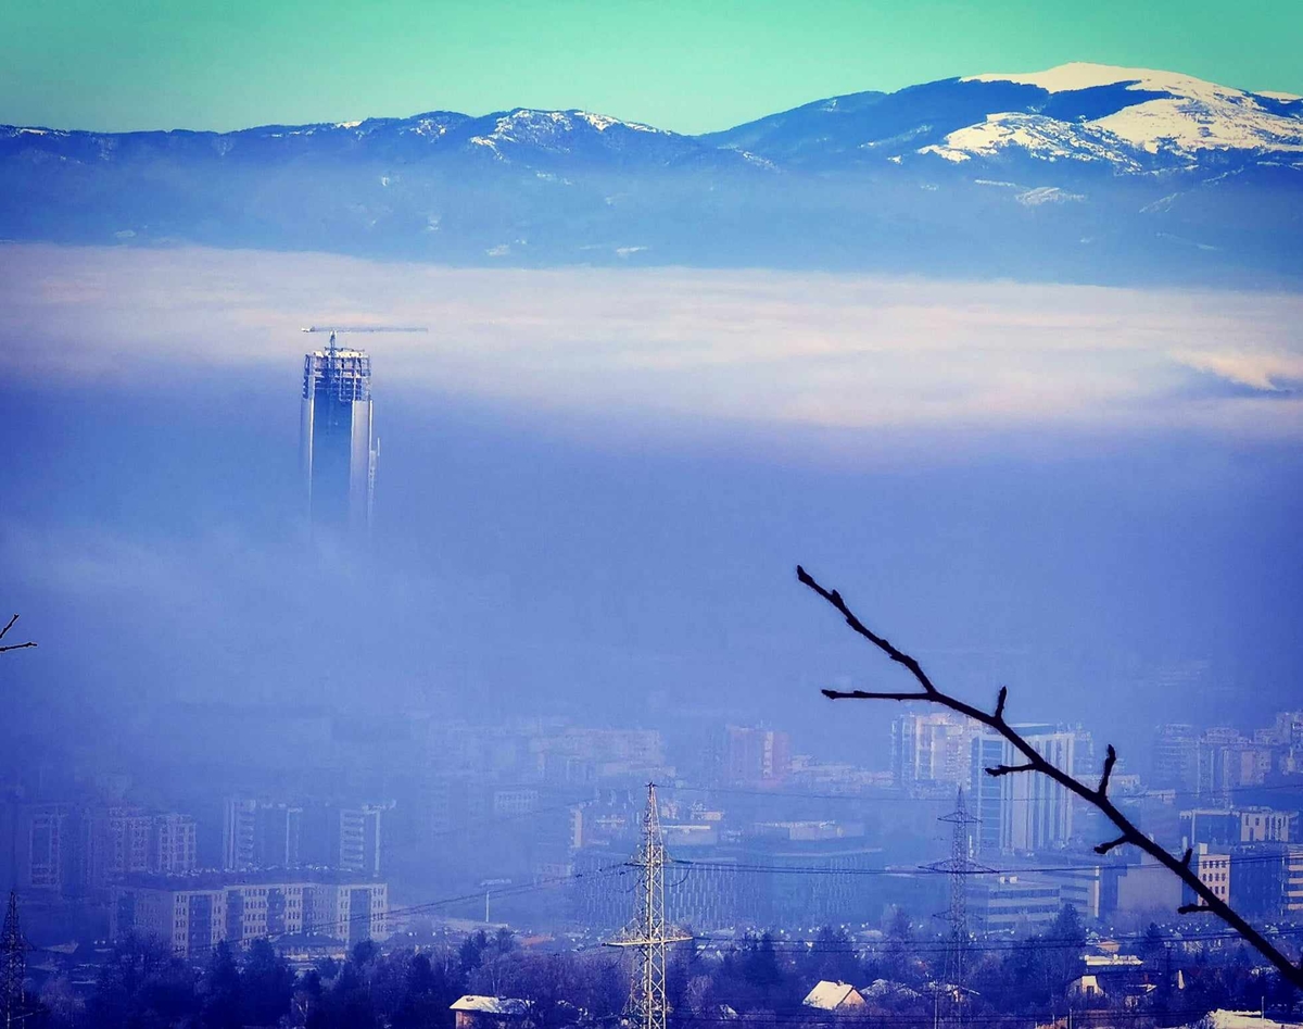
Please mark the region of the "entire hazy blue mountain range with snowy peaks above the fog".
<svg viewBox="0 0 1303 1029"><path fill-rule="evenodd" d="M1303 99L1068 64L696 137L528 107L232 133L0 127L0 237L1303 283Z"/></svg>

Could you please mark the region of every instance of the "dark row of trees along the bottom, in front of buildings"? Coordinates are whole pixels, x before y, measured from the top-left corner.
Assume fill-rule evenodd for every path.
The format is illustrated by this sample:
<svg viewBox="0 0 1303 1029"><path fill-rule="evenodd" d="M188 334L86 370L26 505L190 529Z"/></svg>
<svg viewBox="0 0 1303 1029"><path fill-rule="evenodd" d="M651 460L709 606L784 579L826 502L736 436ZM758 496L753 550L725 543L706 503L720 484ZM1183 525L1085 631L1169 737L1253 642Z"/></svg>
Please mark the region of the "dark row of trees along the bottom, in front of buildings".
<svg viewBox="0 0 1303 1029"><path fill-rule="evenodd" d="M1224 943L1224 942L1222 942ZM1065 908L1044 934L999 947L975 944L968 955L963 1020L997 1029L1029 1029L1070 1013L1078 1025L1191 1025L1214 1008L1290 1015L1294 990L1264 974L1240 944L1191 948L1157 926L1139 943L1143 969L1130 990L1110 983L1083 996L1085 932ZM840 929L812 940L749 935L722 949L701 943L675 948L666 990L671 1025L708 1029L744 1020L756 1025L850 1020L864 1026L930 1026L959 1016L955 992L938 987L945 948L916 940L898 914L885 940L868 951ZM803 1006L821 979L860 989L853 1011ZM1152 987L1152 989L1151 989ZM202 965L168 956L152 943L116 949L94 992L82 998L64 978L40 994L38 1024L53 1029L452 1029L450 1006L464 994L519 998L521 1029L612 1024L628 991L627 966L606 949L545 952L520 947L507 930L470 935L459 948L395 949L357 944L344 961L324 959L296 974L265 942L238 952L225 944Z"/></svg>

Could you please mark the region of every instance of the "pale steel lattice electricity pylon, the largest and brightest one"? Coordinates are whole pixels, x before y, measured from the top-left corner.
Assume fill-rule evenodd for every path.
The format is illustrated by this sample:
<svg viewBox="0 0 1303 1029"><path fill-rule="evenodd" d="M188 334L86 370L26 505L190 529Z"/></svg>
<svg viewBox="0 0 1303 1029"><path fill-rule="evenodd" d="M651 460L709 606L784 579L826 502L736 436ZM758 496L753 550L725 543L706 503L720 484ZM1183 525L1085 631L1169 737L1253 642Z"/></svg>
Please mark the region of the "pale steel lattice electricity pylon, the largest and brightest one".
<svg viewBox="0 0 1303 1029"><path fill-rule="evenodd" d="M666 1029L668 1003L665 998L665 955L671 943L692 939L665 917L665 866L670 858L661 839L655 783L648 784L648 807L642 815L642 841L629 862L638 870L638 900L633 921L609 947L635 947L638 965L629 982L628 1021L636 1029Z"/></svg>

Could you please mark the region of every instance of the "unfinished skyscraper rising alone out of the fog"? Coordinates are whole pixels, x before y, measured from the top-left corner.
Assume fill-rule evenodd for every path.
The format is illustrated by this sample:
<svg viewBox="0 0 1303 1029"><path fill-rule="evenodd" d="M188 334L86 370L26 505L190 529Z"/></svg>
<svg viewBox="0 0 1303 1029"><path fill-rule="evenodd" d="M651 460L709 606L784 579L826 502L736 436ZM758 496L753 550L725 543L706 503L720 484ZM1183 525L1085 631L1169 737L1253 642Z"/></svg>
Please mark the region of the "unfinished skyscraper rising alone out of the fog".
<svg viewBox="0 0 1303 1029"><path fill-rule="evenodd" d="M336 347L334 333L326 350L304 356L300 441L313 524L367 531L380 453L371 432L371 359Z"/></svg>

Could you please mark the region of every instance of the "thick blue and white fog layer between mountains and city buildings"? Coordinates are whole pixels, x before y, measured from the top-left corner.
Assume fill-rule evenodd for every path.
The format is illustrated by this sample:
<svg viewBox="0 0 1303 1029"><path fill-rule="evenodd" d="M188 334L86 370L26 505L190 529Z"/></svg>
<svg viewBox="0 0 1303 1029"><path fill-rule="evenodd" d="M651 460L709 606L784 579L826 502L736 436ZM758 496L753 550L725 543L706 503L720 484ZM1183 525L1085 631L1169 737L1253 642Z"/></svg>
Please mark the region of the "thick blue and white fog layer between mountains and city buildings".
<svg viewBox="0 0 1303 1029"><path fill-rule="evenodd" d="M895 670L801 562L960 695L1138 764L1174 703L1252 728L1303 670L1300 303L3 246L17 724L676 715L883 767L895 712L833 724L817 690ZM431 331L366 340L360 558L304 531L298 327L382 317Z"/></svg>

